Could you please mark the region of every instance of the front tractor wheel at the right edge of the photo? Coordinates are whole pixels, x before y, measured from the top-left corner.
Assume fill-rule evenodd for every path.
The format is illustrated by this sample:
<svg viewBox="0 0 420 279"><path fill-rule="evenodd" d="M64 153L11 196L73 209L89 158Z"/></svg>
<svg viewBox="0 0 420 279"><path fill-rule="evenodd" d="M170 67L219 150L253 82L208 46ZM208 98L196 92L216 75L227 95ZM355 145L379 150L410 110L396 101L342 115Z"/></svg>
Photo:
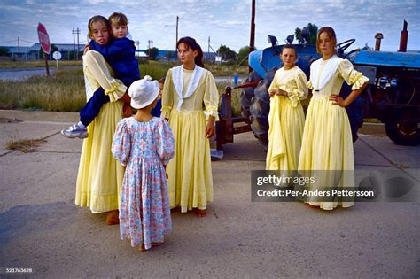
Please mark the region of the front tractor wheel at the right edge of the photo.
<svg viewBox="0 0 420 279"><path fill-rule="evenodd" d="M386 135L400 145L416 146L420 144L418 112L403 112L401 120L386 120Z"/></svg>

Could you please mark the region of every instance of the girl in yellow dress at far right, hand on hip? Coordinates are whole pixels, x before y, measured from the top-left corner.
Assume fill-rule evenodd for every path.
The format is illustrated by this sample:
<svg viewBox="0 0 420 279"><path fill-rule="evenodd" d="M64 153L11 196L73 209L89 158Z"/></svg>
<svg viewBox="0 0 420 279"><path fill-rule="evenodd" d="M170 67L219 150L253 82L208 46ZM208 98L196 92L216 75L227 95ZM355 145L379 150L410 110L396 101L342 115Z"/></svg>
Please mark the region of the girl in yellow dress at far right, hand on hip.
<svg viewBox="0 0 420 279"><path fill-rule="evenodd" d="M323 58L311 65L307 86L313 96L307 108L299 155L299 170L308 171L305 176L317 176L315 183L308 184L310 191L333 185L338 185L338 190L354 189L353 141L346 106L362 93L369 79L355 71L350 61L335 55L336 45L334 30L322 27L317 34L316 50ZM353 85L346 99L339 97L343 81ZM307 203L332 210L337 205L353 206L354 200L312 196Z"/></svg>

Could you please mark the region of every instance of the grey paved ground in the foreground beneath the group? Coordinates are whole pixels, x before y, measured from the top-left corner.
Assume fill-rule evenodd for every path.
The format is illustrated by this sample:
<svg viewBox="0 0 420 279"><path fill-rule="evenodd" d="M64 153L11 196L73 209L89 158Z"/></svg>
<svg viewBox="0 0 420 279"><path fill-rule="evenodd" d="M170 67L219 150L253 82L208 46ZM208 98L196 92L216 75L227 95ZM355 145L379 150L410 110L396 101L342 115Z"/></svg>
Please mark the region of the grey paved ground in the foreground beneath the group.
<svg viewBox="0 0 420 279"><path fill-rule="evenodd" d="M333 212L252 203L250 173L264 167L265 153L250 133L236 136L225 158L212 163L207 217L173 213L166 243L138 252L120 240L118 227L105 226L104 214L74 205L82 142L58 130L77 114L0 111L4 117L23 121L0 122L0 267L51 278L420 275L419 203L358 203ZM13 138L44 142L29 153L4 149ZM359 170L420 170L419 147L385 136L361 135L354 153Z"/></svg>

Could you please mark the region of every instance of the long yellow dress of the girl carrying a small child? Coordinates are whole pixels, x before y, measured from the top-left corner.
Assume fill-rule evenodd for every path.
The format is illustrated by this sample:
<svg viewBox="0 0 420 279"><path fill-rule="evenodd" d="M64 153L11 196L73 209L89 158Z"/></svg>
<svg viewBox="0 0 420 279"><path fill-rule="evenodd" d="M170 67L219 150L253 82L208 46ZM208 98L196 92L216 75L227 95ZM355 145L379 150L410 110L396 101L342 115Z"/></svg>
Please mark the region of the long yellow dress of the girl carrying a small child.
<svg viewBox="0 0 420 279"><path fill-rule="evenodd" d="M95 91L102 87L111 100L102 106L88 126L89 137L83 140L77 174L75 204L89 206L92 213L105 213L119 208L124 176L123 167L113 158L111 146L115 128L122 118L123 103L118 99L127 88L121 81L113 79L110 71L111 68L97 51L89 50L83 56L87 88Z"/></svg>

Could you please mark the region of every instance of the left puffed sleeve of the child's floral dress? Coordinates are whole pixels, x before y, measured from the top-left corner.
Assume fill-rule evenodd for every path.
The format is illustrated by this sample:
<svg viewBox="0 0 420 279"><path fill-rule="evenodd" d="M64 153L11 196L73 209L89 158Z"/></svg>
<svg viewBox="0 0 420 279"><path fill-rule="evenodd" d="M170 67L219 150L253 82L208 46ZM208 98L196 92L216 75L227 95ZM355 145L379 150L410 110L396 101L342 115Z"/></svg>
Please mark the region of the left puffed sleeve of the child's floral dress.
<svg viewBox="0 0 420 279"><path fill-rule="evenodd" d="M131 136L128 131L126 120L120 120L120 122L118 122L115 134L113 135L111 151L113 152L113 157L115 157L122 166L126 167L131 151Z"/></svg>

